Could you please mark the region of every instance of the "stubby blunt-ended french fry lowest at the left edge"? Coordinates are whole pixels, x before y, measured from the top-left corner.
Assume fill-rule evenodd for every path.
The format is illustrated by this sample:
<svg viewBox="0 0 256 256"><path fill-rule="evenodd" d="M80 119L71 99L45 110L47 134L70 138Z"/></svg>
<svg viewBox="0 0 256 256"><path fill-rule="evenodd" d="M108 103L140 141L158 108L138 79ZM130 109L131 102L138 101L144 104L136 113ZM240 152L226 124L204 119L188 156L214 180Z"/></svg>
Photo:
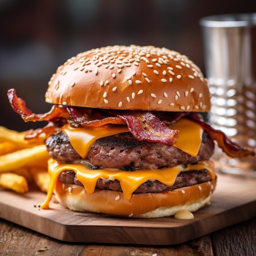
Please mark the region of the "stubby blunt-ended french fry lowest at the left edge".
<svg viewBox="0 0 256 256"><path fill-rule="evenodd" d="M0 173L0 186L18 193L25 193L29 190L25 177L16 173Z"/></svg>

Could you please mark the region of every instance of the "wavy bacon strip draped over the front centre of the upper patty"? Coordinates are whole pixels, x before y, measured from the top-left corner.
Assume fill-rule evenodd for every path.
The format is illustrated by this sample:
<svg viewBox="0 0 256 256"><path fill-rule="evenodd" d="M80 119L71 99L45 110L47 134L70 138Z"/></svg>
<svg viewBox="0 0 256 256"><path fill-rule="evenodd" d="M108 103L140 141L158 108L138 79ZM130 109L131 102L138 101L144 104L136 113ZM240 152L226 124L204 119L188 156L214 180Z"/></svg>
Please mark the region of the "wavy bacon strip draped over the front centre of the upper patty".
<svg viewBox="0 0 256 256"><path fill-rule="evenodd" d="M67 107L76 124L83 127L98 127L104 124L127 124L132 135L138 140L173 145L177 141L178 130L171 130L151 112L97 110ZM112 116L110 116L112 115Z"/></svg>

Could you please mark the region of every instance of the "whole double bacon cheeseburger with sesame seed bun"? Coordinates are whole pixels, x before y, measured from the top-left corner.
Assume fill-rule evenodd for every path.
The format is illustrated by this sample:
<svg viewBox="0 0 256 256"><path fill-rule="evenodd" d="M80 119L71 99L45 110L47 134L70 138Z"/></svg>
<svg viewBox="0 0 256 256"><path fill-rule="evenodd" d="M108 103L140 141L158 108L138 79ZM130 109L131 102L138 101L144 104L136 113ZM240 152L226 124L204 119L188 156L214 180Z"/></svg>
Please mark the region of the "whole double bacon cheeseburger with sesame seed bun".
<svg viewBox="0 0 256 256"><path fill-rule="evenodd" d="M215 142L228 155L252 154L203 121L207 80L188 57L166 48L109 46L58 67L36 115L14 89L25 121L48 121L27 139L45 138L49 191L73 211L158 218L210 203Z"/></svg>

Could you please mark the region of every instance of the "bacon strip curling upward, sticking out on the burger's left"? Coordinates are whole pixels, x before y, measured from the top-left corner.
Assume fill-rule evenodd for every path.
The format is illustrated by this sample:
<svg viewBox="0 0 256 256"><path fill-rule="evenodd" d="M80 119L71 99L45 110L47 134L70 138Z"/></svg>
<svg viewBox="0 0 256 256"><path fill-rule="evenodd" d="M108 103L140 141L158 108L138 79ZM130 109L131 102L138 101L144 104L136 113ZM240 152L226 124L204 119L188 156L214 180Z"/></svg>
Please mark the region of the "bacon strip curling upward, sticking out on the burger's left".
<svg viewBox="0 0 256 256"><path fill-rule="evenodd" d="M58 105L53 105L52 109L45 114L34 114L26 108L26 103L21 98L18 98L16 95L15 89L10 89L7 92L7 96L9 98L9 102L11 107L15 112L20 114L21 118L25 121L53 121L54 119L67 118L69 114L66 108L61 108Z"/></svg>

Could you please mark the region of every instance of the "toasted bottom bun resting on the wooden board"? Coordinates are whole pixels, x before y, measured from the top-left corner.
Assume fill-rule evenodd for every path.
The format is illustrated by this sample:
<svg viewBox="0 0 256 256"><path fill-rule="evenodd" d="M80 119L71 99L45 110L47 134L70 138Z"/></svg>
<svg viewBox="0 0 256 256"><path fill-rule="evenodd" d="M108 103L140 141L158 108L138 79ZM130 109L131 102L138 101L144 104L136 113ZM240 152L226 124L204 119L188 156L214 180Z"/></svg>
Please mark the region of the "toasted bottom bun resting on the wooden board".
<svg viewBox="0 0 256 256"><path fill-rule="evenodd" d="M210 203L216 179L161 193L133 193L126 200L122 192L95 189L89 194L83 186L58 181L56 200L72 211L105 213L136 218L173 216L181 209L197 211Z"/></svg>

